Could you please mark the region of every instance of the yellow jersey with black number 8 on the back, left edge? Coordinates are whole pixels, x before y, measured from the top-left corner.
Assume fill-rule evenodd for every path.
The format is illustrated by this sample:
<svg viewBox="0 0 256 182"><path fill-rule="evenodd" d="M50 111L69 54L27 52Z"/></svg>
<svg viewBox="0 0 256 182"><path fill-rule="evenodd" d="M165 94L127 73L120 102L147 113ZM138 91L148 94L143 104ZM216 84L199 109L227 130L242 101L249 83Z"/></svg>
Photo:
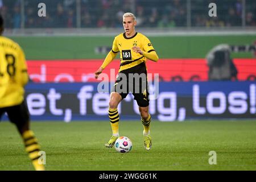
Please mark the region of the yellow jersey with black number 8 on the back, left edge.
<svg viewBox="0 0 256 182"><path fill-rule="evenodd" d="M0 36L0 107L21 104L28 82L24 52L13 40Z"/></svg>

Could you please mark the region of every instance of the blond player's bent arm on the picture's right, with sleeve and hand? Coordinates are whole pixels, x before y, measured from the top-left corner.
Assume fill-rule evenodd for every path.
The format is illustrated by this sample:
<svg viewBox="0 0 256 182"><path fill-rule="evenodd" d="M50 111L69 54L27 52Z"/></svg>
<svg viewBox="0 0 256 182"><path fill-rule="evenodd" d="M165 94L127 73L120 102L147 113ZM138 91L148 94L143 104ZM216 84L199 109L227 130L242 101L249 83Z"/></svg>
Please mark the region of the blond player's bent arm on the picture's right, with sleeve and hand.
<svg viewBox="0 0 256 182"><path fill-rule="evenodd" d="M152 61L156 62L159 59L154 47L152 46L148 38L144 39L143 50L137 46L134 46L132 49L134 52L140 53L141 55L145 56L147 59L150 59Z"/></svg>

